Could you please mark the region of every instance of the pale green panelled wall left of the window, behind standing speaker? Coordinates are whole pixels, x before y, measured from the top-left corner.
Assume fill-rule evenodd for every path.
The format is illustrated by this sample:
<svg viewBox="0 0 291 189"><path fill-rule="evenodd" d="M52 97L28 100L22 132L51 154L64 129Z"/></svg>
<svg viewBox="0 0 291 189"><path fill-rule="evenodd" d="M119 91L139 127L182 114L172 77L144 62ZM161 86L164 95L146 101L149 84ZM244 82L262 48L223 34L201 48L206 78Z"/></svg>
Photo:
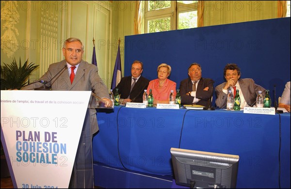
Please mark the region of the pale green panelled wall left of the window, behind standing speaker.
<svg viewBox="0 0 291 189"><path fill-rule="evenodd" d="M15 11L12 20L19 14L18 22L13 25L19 32L17 35L13 30L15 44L19 46L10 57L1 47L1 64L11 63L13 57L17 62L19 57L22 62L29 58L29 62L40 65L30 80L38 79L49 64L64 59L62 46L69 37L81 39L85 50L83 60L91 63L94 38L99 75L107 86L111 85L118 39L121 39L123 65L124 36L133 33L134 1L14 1L9 6L5 3L1 1L1 14L2 8L9 13ZM5 32L3 23L1 20L1 36ZM5 45L2 42L1 38L1 45Z"/></svg>

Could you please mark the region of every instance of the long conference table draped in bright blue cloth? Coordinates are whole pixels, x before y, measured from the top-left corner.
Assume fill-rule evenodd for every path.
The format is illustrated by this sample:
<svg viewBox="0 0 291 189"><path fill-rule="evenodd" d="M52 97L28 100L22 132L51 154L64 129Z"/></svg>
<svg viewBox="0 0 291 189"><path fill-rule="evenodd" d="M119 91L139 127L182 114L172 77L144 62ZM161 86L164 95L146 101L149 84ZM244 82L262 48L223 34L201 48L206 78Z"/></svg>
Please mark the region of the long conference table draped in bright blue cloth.
<svg viewBox="0 0 291 189"><path fill-rule="evenodd" d="M140 175L173 177L170 148L174 147L240 156L237 188L291 186L290 113L115 106L97 109L97 120L94 164ZM100 175L97 169L94 175ZM104 179L96 182L97 186L110 186ZM127 177L106 182L131 188L132 181Z"/></svg>

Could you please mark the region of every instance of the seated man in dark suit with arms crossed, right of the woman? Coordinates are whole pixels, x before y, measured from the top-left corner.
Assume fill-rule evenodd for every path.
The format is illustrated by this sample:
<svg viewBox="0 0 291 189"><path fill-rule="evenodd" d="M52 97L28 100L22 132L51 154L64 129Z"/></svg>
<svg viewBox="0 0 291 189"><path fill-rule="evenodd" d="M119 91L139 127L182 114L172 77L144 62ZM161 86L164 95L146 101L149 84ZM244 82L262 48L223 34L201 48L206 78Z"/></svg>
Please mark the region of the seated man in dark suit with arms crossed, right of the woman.
<svg viewBox="0 0 291 189"><path fill-rule="evenodd" d="M202 68L199 63L192 63L188 68L187 79L180 83L181 104L194 104L208 107L212 97L214 81L202 78Z"/></svg>

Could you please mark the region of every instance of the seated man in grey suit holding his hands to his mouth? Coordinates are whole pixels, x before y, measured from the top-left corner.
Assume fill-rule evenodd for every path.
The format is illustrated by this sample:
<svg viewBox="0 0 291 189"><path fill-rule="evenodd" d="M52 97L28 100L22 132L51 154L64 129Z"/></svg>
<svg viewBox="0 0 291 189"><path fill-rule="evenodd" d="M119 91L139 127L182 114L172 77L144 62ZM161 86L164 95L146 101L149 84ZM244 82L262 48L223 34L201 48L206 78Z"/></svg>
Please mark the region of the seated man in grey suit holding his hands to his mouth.
<svg viewBox="0 0 291 189"><path fill-rule="evenodd" d="M258 91L262 91L263 96L266 90L257 85L253 79L241 78L241 69L235 63L228 63L224 68L226 82L215 87L217 108L226 108L226 97L228 90L239 90L241 97L241 108L253 106L256 102Z"/></svg>

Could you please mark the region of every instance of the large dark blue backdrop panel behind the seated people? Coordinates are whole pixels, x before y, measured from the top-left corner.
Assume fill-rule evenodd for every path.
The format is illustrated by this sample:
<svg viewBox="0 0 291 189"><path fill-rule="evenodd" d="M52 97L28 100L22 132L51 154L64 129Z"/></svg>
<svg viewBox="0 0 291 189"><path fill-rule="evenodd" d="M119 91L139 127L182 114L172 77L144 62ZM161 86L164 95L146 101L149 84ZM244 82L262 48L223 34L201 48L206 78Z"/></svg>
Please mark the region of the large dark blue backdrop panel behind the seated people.
<svg viewBox="0 0 291 189"><path fill-rule="evenodd" d="M225 81L226 63L237 63L241 78L270 89L274 106L274 85L278 97L290 81L290 26L288 17L126 36L124 73L129 76L131 63L139 60L143 76L152 80L158 65L167 63L172 67L169 79L179 87L196 62L202 77L214 79L217 86Z"/></svg>

